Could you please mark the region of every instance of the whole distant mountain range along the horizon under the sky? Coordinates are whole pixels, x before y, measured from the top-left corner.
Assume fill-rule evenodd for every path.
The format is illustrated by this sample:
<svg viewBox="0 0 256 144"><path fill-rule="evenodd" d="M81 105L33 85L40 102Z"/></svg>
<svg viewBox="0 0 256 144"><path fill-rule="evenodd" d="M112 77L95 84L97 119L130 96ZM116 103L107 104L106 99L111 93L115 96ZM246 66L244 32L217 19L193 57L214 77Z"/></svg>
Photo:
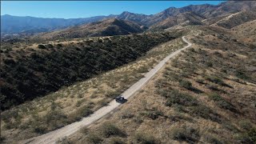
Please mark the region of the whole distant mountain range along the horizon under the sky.
<svg viewBox="0 0 256 144"><path fill-rule="evenodd" d="M204 5L190 5L190 6L185 6L181 8L170 7L158 14L151 14L151 15L134 14L134 13L125 11L122 14L118 14L118 15L111 14L109 16L96 16L96 17L90 17L90 18L70 18L70 19L34 18L34 17L18 17L18 16L11 16L11 15L2 15L1 16L1 35L2 36L6 34L31 35L31 34L41 33L41 32L49 32L53 30L62 30L66 28L68 28L67 30L73 30L74 27L70 28L70 26L71 27L78 26L81 29L82 27L87 28L88 25L86 24L90 22L98 22L98 21L106 20L108 18L117 18L119 19L119 21L125 20L126 22L129 21L130 23L136 22L137 23L135 24L136 26L137 25L146 26L146 27L150 27L150 29L152 30L166 29L171 26L176 26L178 24L202 25L202 24L206 24L205 22L202 22L202 20L204 19L205 21L206 19L210 19L211 23L218 22L218 20L220 20L221 18L225 18L229 14L234 14L241 10L253 10L255 6L256 6L256 2L254 1L247 1L247 2L229 1L229 2L222 2L217 6L204 4ZM122 23L125 23L125 22L122 22ZM98 25L98 23L91 23L89 25L89 29L90 29L90 26L92 26L93 24ZM138 30L138 28L135 28L135 29ZM136 32L139 31L137 30ZM127 32L123 34L127 34ZM84 34L84 35L90 35L90 34Z"/></svg>

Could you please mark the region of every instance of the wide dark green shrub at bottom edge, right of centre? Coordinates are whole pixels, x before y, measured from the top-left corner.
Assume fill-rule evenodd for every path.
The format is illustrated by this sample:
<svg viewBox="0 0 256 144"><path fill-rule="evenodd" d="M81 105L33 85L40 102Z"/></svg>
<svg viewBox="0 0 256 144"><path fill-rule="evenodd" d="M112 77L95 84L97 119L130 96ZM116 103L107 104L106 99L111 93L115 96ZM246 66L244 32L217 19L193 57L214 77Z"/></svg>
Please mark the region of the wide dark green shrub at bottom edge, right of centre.
<svg viewBox="0 0 256 144"><path fill-rule="evenodd" d="M172 138L178 141L184 141L189 143L198 142L200 135L198 130L192 127L175 128L172 131Z"/></svg>

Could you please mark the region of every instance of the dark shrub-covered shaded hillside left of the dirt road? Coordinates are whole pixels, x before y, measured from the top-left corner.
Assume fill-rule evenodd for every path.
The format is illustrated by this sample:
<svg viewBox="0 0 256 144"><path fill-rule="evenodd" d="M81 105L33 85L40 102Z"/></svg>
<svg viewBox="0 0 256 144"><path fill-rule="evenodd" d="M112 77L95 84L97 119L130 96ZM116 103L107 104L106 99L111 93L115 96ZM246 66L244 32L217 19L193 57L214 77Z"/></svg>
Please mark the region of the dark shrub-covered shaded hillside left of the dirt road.
<svg viewBox="0 0 256 144"><path fill-rule="evenodd" d="M142 34L2 50L1 109L132 62L172 38L169 33Z"/></svg>

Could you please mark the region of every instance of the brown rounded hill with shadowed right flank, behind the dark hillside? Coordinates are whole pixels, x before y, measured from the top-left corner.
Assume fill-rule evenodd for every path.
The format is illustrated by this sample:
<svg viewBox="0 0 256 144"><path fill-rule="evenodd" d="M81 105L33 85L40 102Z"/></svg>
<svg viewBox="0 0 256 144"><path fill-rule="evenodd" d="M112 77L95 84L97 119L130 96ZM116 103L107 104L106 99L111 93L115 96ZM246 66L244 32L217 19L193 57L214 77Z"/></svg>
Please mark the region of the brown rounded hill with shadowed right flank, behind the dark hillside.
<svg viewBox="0 0 256 144"><path fill-rule="evenodd" d="M38 34L34 39L84 38L96 36L112 36L140 33L143 30L134 22L110 18L99 22L92 22L82 26L73 26L64 30L57 30L46 34Z"/></svg>

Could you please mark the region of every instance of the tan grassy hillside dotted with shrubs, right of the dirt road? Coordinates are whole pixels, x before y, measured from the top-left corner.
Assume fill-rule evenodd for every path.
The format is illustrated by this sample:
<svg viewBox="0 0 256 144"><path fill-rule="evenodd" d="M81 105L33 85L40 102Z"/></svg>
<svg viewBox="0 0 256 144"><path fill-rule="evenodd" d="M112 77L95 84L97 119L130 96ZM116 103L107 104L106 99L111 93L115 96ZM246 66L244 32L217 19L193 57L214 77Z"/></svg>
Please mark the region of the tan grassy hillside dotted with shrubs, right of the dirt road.
<svg viewBox="0 0 256 144"><path fill-rule="evenodd" d="M230 37L198 27L194 46L118 111L60 142L254 143L255 48Z"/></svg>

